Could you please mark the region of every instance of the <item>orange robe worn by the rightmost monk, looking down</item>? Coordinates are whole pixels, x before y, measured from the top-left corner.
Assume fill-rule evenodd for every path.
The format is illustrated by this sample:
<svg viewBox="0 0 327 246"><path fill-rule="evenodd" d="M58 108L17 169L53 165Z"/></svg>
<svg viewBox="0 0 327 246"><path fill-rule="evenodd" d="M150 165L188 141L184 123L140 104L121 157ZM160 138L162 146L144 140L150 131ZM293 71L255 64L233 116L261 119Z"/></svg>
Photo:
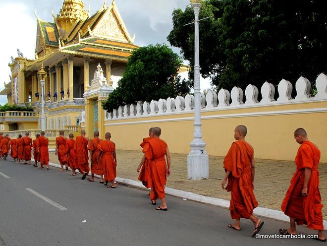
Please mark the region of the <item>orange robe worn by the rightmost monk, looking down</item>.
<svg viewBox="0 0 327 246"><path fill-rule="evenodd" d="M281 204L281 210L294 218L298 225L306 224L312 230L324 230L322 198L319 191L320 150L310 141L301 144L295 157L296 172ZM311 169L308 195L302 196L304 170Z"/></svg>

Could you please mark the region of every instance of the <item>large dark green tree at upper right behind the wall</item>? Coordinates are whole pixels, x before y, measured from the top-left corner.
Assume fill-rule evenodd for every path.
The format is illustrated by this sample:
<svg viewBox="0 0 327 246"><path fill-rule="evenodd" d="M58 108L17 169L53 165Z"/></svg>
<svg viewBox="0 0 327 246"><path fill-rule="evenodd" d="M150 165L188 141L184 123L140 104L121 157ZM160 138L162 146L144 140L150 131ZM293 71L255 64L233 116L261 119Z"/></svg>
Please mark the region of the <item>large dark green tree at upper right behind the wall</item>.
<svg viewBox="0 0 327 246"><path fill-rule="evenodd" d="M200 18L200 72L230 90L251 83L293 85L299 76L314 80L327 71L326 4L320 0L207 0ZM167 39L193 64L194 16L190 6L173 11ZM191 25L190 25L191 26ZM191 67L192 68L192 67ZM193 69L193 68L192 68ZM192 73L190 73L192 78Z"/></svg>

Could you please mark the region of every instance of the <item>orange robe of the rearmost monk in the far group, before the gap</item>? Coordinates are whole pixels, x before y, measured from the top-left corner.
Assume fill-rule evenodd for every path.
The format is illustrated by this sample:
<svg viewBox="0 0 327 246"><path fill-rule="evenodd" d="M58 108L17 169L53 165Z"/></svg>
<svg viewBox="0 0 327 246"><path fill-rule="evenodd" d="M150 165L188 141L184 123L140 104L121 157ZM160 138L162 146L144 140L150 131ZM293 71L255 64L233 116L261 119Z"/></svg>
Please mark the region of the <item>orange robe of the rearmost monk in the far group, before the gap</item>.
<svg viewBox="0 0 327 246"><path fill-rule="evenodd" d="M116 145L112 141L104 140L98 144L99 151L102 151L100 163L103 166L103 174L106 181L112 181L116 178L116 163L114 162L113 152Z"/></svg>

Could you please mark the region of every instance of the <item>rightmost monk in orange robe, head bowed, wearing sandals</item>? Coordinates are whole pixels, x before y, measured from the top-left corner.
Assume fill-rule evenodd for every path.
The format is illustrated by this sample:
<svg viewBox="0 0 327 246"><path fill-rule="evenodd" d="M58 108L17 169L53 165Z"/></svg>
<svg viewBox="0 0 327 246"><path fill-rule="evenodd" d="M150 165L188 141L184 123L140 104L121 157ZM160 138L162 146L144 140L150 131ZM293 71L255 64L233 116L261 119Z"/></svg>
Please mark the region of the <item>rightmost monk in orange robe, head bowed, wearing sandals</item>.
<svg viewBox="0 0 327 246"><path fill-rule="evenodd" d="M294 138L300 147L295 157L296 171L281 204L281 210L289 216L290 228L279 229L282 235L297 234L296 226L307 225L318 230L318 241L326 242L322 214L322 198L319 191L320 150L309 141L307 132L298 128Z"/></svg>

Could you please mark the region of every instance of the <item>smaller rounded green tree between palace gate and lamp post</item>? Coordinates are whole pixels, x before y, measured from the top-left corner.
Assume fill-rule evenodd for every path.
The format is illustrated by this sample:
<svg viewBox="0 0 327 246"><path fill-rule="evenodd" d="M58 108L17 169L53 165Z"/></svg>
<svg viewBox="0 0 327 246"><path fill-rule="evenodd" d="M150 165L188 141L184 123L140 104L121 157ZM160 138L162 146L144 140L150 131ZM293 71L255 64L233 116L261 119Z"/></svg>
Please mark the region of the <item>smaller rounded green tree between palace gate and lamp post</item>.
<svg viewBox="0 0 327 246"><path fill-rule="evenodd" d="M123 77L103 108L112 111L124 104L184 96L190 91L191 81L178 76L181 64L181 58L166 45L149 45L133 51Z"/></svg>

